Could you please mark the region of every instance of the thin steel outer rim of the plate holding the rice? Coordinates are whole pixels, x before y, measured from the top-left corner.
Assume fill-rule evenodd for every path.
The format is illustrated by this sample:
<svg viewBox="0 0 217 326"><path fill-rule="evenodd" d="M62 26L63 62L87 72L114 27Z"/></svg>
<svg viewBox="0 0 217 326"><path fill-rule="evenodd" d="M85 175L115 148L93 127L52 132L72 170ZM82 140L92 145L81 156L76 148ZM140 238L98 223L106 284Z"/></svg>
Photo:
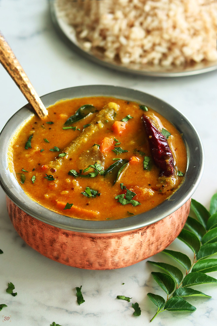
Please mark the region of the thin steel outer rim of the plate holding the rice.
<svg viewBox="0 0 217 326"><path fill-rule="evenodd" d="M140 70L140 69L132 69L125 67L123 65L118 65L115 63L110 63L105 60L102 60L101 58L95 56L92 53L84 51L78 44L76 44L72 38L70 37L70 33L65 31L63 26L61 25L60 20L57 17L57 11L55 6L55 0L49 0L49 7L50 7L50 15L51 20L53 22L54 28L58 35L61 37L61 39L76 53L79 55L82 55L85 59L88 59L98 65L101 65L103 67L121 71L123 73L130 73L134 75L140 75L140 76L150 76L150 77L185 77L185 76L193 76L198 75L202 73L207 73L210 71L214 71L217 69L217 62L207 62L204 64L195 64L196 68L192 67L185 67L184 70L179 71L151 71L151 70Z"/></svg>

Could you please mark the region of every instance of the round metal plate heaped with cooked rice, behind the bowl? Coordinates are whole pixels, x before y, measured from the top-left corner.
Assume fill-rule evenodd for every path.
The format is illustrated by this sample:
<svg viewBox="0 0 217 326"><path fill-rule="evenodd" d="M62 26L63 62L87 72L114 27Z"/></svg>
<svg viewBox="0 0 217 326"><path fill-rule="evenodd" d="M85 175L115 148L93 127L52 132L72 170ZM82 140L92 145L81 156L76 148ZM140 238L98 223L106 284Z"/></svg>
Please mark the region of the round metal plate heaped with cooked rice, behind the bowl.
<svg viewBox="0 0 217 326"><path fill-rule="evenodd" d="M60 37L87 59L156 77L217 69L216 0L50 0Z"/></svg>

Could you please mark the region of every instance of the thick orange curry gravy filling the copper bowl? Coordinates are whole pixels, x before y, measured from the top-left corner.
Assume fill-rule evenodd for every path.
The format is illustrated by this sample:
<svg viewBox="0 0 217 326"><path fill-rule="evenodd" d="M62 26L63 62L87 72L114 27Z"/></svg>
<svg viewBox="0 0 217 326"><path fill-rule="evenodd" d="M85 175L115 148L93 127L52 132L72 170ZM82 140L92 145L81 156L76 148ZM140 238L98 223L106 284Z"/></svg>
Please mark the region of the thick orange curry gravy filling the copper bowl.
<svg viewBox="0 0 217 326"><path fill-rule="evenodd" d="M72 155L67 153L67 146L82 132L88 130L88 127L86 129L84 126L91 125L91 121L94 121L99 111L109 102L115 102L119 106L113 121L105 120L100 131L87 137L86 141L81 140L81 144ZM92 104L98 111L74 123L72 126L76 126L76 130L63 129L66 120L85 104ZM178 171L185 172L187 164L182 136L169 121L152 109L148 108L148 111L144 112L138 103L100 96L62 100L50 106L48 112L46 121L42 122L36 115L30 118L14 136L9 149L10 170L15 174L25 193L44 207L75 218L119 219L152 209L168 198L183 181L184 176L177 176ZM143 113L153 119L160 131L164 128L171 134L168 143L176 169L176 176L172 183L171 178L159 177L160 169L154 162L151 170L143 169L144 156L151 156L142 126ZM114 122L121 121L127 115L133 118L124 122L124 130L114 128ZM31 135L33 135L32 148L25 149L25 144ZM93 146L94 144L97 145ZM55 149L54 146L59 151L50 151ZM115 147L128 152L116 155L112 151ZM55 164L60 159L58 155L61 153L67 155L61 157L61 165L56 167ZM106 170L117 162L113 158L129 161L115 184L113 184L115 178L113 172L106 176L99 173L95 177L74 177L68 174L70 170L79 173L80 169L85 170L88 165L94 165L96 161L103 167L102 171ZM94 169L90 167L87 172L82 171L81 174L87 175L93 171ZM46 174L51 175L54 180L45 178ZM22 183L23 178L25 178L24 183ZM126 194L126 190L121 189L120 183L136 194L133 200L138 201L140 205L133 206L131 203L122 205L118 199L115 199L117 195ZM97 190L100 196L86 197L82 194L86 187ZM73 206L70 205L71 208L64 210L67 203Z"/></svg>

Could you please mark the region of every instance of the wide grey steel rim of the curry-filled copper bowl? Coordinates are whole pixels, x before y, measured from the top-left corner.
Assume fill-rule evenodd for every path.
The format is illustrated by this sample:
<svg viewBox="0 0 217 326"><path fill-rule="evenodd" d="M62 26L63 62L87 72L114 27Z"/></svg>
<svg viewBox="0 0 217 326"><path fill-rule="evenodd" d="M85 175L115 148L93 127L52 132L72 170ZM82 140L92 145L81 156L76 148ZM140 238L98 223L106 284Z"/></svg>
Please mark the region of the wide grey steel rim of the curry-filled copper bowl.
<svg viewBox="0 0 217 326"><path fill-rule="evenodd" d="M24 121L33 115L30 105L27 104L7 121L0 133L2 149L0 184L6 195L21 210L42 222L65 230L85 233L115 233L136 230L153 224L175 212L192 197L202 178L204 149L196 129L181 112L155 96L134 89L111 85L70 87L48 93L41 96L41 99L45 107L48 107L61 99L86 96L113 96L128 101L136 101L153 108L166 119L169 119L183 133L183 141L187 150L187 170L181 187L174 192L169 200L164 200L150 211L118 220L90 221L71 218L48 210L31 200L24 193L13 173L7 169L7 148L12 138L11 135L14 135Z"/></svg>

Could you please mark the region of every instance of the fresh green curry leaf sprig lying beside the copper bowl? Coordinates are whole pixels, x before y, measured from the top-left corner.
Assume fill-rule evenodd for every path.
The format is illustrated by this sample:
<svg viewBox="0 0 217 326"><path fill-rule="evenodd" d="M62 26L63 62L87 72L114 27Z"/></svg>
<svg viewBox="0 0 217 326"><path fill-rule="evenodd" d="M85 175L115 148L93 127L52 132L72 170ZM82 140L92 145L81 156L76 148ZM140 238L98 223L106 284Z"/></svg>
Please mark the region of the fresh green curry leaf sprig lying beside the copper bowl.
<svg viewBox="0 0 217 326"><path fill-rule="evenodd" d="M186 229L181 231L178 239L193 251L193 259L191 260L182 252L167 249L162 251L178 261L185 268L186 274L183 276L181 270L173 265L148 261L168 273L152 272L157 284L166 292L167 298L165 300L160 295L147 294L157 306L157 312L151 321L165 310L195 311L196 307L184 298L190 296L210 298L210 296L191 287L198 284L217 283L217 279L207 275L207 273L217 271L217 259L209 258L217 254L217 193L211 198L210 212L193 199L191 210L197 219L188 216L185 223Z"/></svg>

